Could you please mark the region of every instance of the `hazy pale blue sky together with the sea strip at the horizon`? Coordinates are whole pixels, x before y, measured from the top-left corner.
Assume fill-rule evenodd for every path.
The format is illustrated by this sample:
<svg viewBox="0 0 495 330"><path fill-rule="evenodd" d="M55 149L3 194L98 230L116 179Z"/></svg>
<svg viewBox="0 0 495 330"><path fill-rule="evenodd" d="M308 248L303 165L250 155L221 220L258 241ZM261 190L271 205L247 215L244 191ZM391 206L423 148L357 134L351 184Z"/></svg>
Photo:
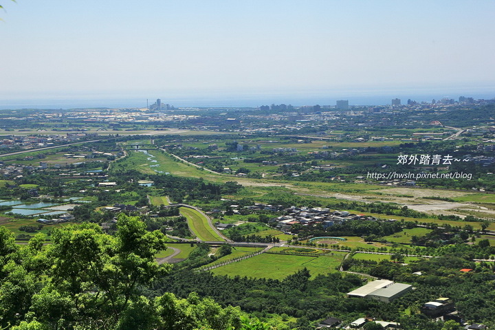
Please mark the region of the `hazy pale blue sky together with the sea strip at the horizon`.
<svg viewBox="0 0 495 330"><path fill-rule="evenodd" d="M495 97L492 0L0 5L0 107Z"/></svg>

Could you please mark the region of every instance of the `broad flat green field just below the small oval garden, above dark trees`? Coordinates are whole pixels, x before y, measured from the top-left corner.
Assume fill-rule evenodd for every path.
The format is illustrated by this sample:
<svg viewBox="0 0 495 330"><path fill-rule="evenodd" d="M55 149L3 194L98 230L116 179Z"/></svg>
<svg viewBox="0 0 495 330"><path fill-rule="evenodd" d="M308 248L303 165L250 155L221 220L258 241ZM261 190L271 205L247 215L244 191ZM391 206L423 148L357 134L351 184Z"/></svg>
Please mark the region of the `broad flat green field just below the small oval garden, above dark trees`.
<svg viewBox="0 0 495 330"><path fill-rule="evenodd" d="M333 256L320 257L263 253L238 263L215 268L212 273L232 277L239 275L281 280L306 267L311 272L311 278L314 278L318 274L337 272L336 268L342 262L344 255L338 252Z"/></svg>

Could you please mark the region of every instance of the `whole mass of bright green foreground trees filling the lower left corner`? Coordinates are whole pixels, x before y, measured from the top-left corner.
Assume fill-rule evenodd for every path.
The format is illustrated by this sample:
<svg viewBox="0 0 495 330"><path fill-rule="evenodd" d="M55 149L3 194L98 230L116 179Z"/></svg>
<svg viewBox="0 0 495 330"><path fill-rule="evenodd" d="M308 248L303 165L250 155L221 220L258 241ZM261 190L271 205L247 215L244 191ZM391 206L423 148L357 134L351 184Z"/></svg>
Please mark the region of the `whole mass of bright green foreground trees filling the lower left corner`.
<svg viewBox="0 0 495 330"><path fill-rule="evenodd" d="M147 287L170 265L158 265L165 236L146 231L139 217L120 214L115 236L95 223L52 230L52 244L36 234L19 248L0 227L0 329L269 329L246 318L239 307L222 308L211 299L164 294L146 298ZM208 250L208 248L206 248Z"/></svg>

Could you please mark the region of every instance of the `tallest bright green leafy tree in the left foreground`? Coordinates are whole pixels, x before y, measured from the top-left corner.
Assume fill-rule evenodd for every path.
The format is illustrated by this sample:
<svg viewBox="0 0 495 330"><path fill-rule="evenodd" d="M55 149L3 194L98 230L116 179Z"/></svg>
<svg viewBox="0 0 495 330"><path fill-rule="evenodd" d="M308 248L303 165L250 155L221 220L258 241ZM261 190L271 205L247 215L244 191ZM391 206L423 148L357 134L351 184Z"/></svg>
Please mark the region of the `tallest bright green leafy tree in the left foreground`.
<svg viewBox="0 0 495 330"><path fill-rule="evenodd" d="M144 308L137 286L168 270L154 259L165 248L164 235L146 232L138 217L125 214L118 217L117 228L115 237L94 223L53 230L52 245L46 248L50 279L32 297L31 309L39 321L52 327L98 329Z"/></svg>

